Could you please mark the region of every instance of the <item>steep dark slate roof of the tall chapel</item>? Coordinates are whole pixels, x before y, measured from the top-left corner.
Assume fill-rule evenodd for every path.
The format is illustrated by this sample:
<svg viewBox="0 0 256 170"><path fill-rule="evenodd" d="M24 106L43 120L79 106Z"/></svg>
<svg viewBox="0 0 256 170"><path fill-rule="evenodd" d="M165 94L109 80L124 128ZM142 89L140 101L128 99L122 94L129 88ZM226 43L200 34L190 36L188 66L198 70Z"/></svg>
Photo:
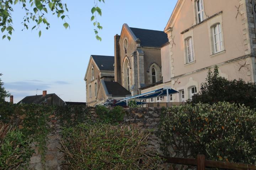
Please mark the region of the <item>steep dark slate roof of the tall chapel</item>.
<svg viewBox="0 0 256 170"><path fill-rule="evenodd" d="M145 47L161 47L168 42L167 34L163 31L150 29L131 28L134 35L140 39L140 46Z"/></svg>

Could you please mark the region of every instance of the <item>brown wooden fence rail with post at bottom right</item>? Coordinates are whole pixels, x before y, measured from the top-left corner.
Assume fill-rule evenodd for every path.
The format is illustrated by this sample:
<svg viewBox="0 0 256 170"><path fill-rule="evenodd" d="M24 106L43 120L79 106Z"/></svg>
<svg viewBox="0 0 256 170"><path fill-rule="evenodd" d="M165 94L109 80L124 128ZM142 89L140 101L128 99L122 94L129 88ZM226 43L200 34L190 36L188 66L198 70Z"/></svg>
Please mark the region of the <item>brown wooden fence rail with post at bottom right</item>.
<svg viewBox="0 0 256 170"><path fill-rule="evenodd" d="M197 159L171 158L171 157L163 157L163 158L166 160L165 162L167 163L195 165L197 166L197 170L205 170L206 167L231 169L231 170L256 170L256 165L205 160L204 155L197 155Z"/></svg>

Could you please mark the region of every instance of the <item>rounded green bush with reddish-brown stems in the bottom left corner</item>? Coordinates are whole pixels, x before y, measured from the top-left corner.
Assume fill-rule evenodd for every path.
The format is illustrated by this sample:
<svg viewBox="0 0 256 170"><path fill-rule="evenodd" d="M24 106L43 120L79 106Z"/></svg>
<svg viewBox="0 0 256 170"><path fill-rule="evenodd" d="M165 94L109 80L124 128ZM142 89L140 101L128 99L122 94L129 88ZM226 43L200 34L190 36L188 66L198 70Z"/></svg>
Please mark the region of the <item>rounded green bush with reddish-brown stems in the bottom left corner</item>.
<svg viewBox="0 0 256 170"><path fill-rule="evenodd" d="M27 168L33 154L30 142L14 126L0 122L0 169Z"/></svg>

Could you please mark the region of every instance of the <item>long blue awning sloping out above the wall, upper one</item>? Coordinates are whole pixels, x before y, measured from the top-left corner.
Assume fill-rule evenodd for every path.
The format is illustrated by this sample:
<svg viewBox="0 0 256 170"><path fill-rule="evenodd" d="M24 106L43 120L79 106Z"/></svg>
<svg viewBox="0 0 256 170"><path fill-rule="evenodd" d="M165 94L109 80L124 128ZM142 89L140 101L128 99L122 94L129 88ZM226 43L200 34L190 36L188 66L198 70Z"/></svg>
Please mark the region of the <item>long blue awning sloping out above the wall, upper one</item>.
<svg viewBox="0 0 256 170"><path fill-rule="evenodd" d="M178 91L176 91L174 89L165 87L165 88L162 88L162 89L150 91L150 92L140 94L140 95L137 95L137 96L126 97L123 100L120 100L119 102L131 100L131 99L140 99L140 100L142 100L142 99L148 99L148 98L153 98L153 97L167 96L167 90L168 90L169 95L178 93Z"/></svg>

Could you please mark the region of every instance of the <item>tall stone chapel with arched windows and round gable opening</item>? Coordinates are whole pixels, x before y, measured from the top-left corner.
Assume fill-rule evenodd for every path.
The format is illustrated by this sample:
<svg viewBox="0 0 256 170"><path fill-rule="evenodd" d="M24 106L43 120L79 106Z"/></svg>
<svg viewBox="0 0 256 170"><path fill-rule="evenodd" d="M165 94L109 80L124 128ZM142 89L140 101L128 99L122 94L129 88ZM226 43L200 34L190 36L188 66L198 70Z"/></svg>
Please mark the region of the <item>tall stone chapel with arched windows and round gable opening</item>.
<svg viewBox="0 0 256 170"><path fill-rule="evenodd" d="M162 81L161 46L168 43L163 31L131 28L123 24L114 36L115 81L138 95L139 89Z"/></svg>

